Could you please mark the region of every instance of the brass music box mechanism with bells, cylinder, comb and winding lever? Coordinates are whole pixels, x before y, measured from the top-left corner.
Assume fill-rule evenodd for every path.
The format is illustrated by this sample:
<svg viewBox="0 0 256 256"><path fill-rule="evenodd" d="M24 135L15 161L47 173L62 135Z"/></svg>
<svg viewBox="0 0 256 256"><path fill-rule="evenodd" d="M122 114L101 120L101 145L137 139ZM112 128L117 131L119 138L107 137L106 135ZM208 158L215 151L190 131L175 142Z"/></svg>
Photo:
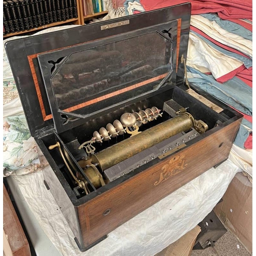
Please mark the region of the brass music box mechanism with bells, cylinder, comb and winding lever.
<svg viewBox="0 0 256 256"><path fill-rule="evenodd" d="M166 103L165 103L166 104ZM63 153L60 143L49 146L49 150L58 151L77 189L86 195L105 184L132 172L134 169L153 161L162 159L186 145L186 141L196 138L208 130L208 125L180 108L171 117L172 111L163 107L168 114L168 120L163 120L144 131L139 131L142 125L157 120L163 116L163 111L156 106L133 113L124 113L120 119L106 124L93 132L91 140L83 142L78 149L86 151L87 157L77 161L80 170ZM169 108L170 109L170 108ZM124 134L131 135L116 144L96 152L95 143L104 143ZM95 188L95 189L94 189Z"/></svg>

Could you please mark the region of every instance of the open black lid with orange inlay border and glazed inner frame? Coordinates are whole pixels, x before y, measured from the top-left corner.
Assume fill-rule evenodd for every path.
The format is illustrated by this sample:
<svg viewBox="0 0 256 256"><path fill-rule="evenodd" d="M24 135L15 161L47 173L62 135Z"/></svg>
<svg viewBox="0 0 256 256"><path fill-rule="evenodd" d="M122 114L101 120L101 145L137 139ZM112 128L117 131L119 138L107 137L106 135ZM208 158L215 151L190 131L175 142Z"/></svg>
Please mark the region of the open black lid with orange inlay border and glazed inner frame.
<svg viewBox="0 0 256 256"><path fill-rule="evenodd" d="M6 44L32 136L61 133L184 79L190 4Z"/></svg>

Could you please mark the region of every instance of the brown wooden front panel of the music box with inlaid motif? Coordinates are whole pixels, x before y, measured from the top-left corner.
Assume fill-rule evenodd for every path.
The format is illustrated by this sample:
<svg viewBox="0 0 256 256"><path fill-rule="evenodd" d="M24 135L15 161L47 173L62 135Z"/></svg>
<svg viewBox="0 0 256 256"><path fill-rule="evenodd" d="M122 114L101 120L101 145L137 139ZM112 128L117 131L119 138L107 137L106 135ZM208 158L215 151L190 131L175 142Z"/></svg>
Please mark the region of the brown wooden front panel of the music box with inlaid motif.
<svg viewBox="0 0 256 256"><path fill-rule="evenodd" d="M85 246L228 158L241 118L78 207Z"/></svg>

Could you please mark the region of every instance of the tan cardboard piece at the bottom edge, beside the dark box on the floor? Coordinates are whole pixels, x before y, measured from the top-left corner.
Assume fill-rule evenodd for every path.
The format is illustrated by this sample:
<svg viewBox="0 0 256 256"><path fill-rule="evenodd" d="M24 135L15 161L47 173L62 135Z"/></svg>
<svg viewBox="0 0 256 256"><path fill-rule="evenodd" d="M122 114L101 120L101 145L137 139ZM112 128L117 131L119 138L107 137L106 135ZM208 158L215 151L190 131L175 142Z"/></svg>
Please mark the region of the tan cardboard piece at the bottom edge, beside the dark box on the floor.
<svg viewBox="0 0 256 256"><path fill-rule="evenodd" d="M155 256L189 256L201 228L196 226L176 242L157 253Z"/></svg>

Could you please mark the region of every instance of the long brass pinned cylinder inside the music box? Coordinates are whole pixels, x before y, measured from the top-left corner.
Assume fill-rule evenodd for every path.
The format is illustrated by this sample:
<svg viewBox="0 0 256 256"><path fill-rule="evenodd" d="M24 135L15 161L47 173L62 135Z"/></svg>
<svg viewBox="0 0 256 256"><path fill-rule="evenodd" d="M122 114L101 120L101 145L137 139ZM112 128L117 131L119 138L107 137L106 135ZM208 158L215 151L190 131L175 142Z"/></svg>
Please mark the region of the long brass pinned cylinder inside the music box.
<svg viewBox="0 0 256 256"><path fill-rule="evenodd" d="M193 125L193 116L189 113L180 114L92 155L92 164L103 171L180 132L189 131Z"/></svg>

